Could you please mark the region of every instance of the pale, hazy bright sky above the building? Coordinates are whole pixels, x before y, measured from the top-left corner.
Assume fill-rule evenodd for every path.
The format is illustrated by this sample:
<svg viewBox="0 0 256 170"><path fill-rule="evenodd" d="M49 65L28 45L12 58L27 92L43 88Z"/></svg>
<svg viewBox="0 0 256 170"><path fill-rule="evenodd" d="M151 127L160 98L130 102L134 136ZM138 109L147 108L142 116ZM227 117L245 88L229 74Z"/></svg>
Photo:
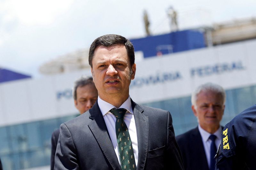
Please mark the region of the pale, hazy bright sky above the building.
<svg viewBox="0 0 256 170"><path fill-rule="evenodd" d="M256 17L255 0L0 0L0 67L40 78L45 62L101 35L145 37L144 10L152 35L167 33L170 6L181 30Z"/></svg>

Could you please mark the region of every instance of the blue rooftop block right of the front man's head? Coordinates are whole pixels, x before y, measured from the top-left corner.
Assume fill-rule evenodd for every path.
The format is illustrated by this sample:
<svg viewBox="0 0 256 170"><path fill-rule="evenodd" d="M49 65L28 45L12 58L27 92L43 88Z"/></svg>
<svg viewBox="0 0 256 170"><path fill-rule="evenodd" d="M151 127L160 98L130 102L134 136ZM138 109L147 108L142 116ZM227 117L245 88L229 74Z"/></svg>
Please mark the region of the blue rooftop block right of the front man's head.
<svg viewBox="0 0 256 170"><path fill-rule="evenodd" d="M168 34L131 39L135 51L143 51L144 58L205 47L204 33L184 30Z"/></svg>

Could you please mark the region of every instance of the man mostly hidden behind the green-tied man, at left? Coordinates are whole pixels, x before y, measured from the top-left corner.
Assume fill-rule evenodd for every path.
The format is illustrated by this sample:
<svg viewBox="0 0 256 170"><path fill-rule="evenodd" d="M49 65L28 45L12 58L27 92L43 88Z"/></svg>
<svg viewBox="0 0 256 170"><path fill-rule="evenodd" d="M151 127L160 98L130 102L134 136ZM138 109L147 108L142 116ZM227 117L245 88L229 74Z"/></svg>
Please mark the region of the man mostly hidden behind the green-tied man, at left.
<svg viewBox="0 0 256 170"><path fill-rule="evenodd" d="M92 108L98 98L98 91L94 85L92 77L81 77L76 80L73 89L73 98L76 109L79 111L80 115ZM54 169L54 156L59 135L60 129L56 129L52 133L51 170Z"/></svg>

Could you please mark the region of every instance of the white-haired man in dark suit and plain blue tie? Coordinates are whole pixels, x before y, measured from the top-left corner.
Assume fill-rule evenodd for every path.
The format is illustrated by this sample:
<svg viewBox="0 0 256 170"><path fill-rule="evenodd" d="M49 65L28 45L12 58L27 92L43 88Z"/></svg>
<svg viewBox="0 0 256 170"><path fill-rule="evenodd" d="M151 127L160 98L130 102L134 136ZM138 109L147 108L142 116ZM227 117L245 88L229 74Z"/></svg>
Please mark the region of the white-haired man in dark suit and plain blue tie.
<svg viewBox="0 0 256 170"><path fill-rule="evenodd" d="M191 96L198 126L176 137L186 170L214 170L214 156L221 141L226 94L213 83L199 86Z"/></svg>

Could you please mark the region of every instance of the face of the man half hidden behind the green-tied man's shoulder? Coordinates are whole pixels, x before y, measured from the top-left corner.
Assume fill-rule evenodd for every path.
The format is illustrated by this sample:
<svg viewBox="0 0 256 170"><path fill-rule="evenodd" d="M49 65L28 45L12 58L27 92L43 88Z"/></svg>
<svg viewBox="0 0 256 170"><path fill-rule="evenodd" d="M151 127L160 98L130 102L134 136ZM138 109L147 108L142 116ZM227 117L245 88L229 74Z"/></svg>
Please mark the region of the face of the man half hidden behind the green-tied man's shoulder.
<svg viewBox="0 0 256 170"><path fill-rule="evenodd" d="M87 84L76 89L75 106L80 114L91 109L98 98L98 91L93 84Z"/></svg>

